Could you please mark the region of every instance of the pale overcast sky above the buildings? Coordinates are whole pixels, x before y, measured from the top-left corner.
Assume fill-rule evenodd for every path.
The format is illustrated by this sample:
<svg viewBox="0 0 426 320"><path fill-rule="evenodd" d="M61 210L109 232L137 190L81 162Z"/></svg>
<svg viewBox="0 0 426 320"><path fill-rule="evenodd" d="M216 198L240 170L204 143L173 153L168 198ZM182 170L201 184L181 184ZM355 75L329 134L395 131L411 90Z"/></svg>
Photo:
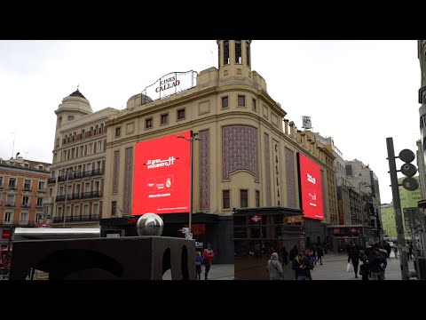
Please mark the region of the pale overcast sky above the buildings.
<svg viewBox="0 0 426 320"><path fill-rule="evenodd" d="M390 203L386 138L397 155L415 152L420 139L417 42L255 40L251 52L252 70L287 118L302 129L311 116L313 131L333 137L345 160L370 165ZM215 40L0 41L0 157L51 163L54 110L77 84L93 111L121 109L165 74L212 66Z"/></svg>

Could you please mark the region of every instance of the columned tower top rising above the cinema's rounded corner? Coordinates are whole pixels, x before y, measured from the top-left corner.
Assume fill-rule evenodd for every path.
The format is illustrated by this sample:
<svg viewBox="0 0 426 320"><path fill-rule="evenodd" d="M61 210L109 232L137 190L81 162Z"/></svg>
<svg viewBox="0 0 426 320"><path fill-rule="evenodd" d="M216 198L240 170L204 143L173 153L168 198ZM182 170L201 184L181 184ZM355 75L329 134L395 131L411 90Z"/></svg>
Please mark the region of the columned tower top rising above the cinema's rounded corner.
<svg viewBox="0 0 426 320"><path fill-rule="evenodd" d="M250 44L251 40L217 40L219 79L222 83L249 82L252 79Z"/></svg>

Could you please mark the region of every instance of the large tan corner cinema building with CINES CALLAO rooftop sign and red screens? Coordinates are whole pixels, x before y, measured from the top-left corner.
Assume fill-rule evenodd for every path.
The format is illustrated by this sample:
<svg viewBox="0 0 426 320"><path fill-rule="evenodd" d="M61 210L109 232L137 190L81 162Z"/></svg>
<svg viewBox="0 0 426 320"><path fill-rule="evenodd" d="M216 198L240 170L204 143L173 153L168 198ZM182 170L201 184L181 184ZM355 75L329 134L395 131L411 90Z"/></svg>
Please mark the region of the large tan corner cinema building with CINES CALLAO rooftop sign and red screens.
<svg viewBox="0 0 426 320"><path fill-rule="evenodd" d="M326 241L333 154L285 118L251 70L250 40L217 45L218 69L162 76L105 122L101 236L136 236L138 216L154 212L163 236L182 237L192 209L193 238L215 263L256 244Z"/></svg>

